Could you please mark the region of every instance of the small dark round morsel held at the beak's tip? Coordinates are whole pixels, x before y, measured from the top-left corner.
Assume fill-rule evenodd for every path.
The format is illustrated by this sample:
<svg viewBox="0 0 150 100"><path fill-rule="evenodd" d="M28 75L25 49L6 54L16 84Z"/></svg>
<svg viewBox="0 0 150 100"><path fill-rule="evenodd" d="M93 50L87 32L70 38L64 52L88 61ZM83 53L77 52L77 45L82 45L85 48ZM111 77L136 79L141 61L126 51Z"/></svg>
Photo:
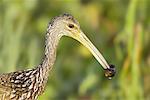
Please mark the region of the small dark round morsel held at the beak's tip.
<svg viewBox="0 0 150 100"><path fill-rule="evenodd" d="M114 65L110 65L110 68L109 68L109 69L105 69L105 76L106 76L108 79L112 79L112 77L115 76L115 73L116 73L116 69L115 69L115 66L114 66Z"/></svg>

